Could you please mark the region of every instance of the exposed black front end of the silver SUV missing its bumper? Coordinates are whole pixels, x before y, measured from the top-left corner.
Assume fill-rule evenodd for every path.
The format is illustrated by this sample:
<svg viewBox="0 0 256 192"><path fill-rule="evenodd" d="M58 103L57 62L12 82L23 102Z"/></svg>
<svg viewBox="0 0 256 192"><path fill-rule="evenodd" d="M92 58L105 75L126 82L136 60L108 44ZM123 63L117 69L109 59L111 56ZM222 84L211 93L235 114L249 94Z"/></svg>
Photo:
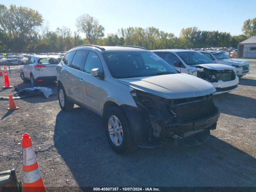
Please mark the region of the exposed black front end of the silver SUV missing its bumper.
<svg viewBox="0 0 256 192"><path fill-rule="evenodd" d="M211 95L166 99L142 91L136 91L136 94L138 106L147 112L150 137L183 138L186 132L216 128L218 108ZM211 116L214 118L210 119ZM208 120L205 121L205 118Z"/></svg>

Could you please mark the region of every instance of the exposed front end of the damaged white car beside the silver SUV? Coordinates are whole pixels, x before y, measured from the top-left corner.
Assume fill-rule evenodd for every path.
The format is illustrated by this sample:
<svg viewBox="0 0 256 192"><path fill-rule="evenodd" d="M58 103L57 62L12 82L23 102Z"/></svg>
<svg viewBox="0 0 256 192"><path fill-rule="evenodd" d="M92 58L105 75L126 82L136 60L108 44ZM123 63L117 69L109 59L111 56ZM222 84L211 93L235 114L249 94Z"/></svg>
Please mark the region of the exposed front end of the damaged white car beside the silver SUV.
<svg viewBox="0 0 256 192"><path fill-rule="evenodd" d="M236 79L236 73L234 70L212 70L202 66L196 66L203 71L197 71L197 77L202 78L210 83L218 81L232 81Z"/></svg>

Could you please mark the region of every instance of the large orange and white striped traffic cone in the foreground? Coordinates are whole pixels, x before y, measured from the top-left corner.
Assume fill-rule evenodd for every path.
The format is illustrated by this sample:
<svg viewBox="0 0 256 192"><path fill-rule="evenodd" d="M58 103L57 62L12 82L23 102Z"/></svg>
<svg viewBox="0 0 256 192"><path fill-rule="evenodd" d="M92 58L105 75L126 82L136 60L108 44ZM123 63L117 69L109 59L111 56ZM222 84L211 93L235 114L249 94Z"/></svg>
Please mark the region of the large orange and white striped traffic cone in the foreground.
<svg viewBox="0 0 256 192"><path fill-rule="evenodd" d="M23 192L46 192L36 160L36 154L28 133L22 135L22 154L24 172L22 182Z"/></svg>

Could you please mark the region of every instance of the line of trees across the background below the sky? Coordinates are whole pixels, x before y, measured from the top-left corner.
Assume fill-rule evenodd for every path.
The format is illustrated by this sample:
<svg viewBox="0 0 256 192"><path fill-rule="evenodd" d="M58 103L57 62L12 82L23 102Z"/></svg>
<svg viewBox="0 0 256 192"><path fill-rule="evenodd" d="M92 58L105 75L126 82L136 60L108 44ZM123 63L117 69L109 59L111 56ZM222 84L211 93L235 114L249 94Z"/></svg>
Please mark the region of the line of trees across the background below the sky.
<svg viewBox="0 0 256 192"><path fill-rule="evenodd" d="M77 31L62 26L51 31L43 25L42 15L31 8L0 4L0 52L61 52L81 44L105 46L134 45L147 49L237 47L239 42L256 35L256 18L246 20L244 34L231 36L229 32L205 31L197 27L182 28L180 36L155 27L120 28L107 34L98 20L88 14L76 19ZM83 32L86 38L79 33Z"/></svg>

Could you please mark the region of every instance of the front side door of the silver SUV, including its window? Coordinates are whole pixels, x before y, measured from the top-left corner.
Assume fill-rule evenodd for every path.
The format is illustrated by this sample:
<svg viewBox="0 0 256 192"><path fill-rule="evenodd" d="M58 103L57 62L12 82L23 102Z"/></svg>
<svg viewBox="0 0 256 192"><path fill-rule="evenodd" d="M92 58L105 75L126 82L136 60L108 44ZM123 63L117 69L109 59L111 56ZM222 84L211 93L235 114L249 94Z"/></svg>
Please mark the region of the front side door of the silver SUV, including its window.
<svg viewBox="0 0 256 192"><path fill-rule="evenodd" d="M104 90L102 90L102 78L91 75L91 70L99 68L103 74L103 68L100 58L96 52L89 51L82 72L79 74L79 101L85 104L94 112L100 114L100 105L102 103Z"/></svg>

